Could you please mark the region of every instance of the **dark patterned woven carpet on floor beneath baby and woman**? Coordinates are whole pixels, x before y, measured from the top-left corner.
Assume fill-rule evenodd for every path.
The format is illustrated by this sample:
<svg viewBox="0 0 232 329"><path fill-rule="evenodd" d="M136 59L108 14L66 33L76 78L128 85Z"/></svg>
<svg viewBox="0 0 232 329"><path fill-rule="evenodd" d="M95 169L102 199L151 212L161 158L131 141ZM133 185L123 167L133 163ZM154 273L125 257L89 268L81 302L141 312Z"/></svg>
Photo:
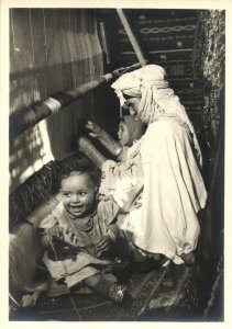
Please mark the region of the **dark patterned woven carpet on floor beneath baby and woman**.
<svg viewBox="0 0 232 329"><path fill-rule="evenodd" d="M11 321L192 321L199 320L196 268L169 264L147 274L134 273L129 283L132 304L123 308L97 295L41 295L34 307L18 308Z"/></svg>

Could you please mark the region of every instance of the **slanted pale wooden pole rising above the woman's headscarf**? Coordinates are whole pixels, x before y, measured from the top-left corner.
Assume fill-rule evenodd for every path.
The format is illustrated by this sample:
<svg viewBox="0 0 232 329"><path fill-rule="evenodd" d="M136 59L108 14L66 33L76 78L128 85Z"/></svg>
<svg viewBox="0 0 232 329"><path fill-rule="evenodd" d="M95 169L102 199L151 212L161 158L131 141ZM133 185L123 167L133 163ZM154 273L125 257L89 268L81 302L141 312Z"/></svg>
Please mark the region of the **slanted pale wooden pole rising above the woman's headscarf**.
<svg viewBox="0 0 232 329"><path fill-rule="evenodd" d="M128 33L128 37L129 37L129 39L130 39L130 42L132 44L132 47L133 47L133 49L134 49L134 52L135 52L135 54L137 56L137 59L139 59L141 66L145 66L146 60L143 57L141 47L140 47L140 45L137 43L137 39L136 39L135 35L133 34L133 32L131 30L131 26L130 26L130 24L128 22L128 19L125 18L125 14L124 14L123 10L122 9L117 9L117 12L118 12L118 14L120 16L122 25L125 29L125 32Z"/></svg>

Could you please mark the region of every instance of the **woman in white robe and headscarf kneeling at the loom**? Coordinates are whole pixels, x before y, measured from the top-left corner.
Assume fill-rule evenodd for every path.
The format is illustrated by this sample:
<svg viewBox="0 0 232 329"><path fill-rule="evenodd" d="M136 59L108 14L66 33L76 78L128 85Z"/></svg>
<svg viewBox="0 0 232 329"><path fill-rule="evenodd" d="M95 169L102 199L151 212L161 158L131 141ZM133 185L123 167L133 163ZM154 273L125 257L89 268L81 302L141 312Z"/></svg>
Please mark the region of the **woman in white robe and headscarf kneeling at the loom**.
<svg viewBox="0 0 232 329"><path fill-rule="evenodd" d="M125 230L142 251L191 264L207 200L195 129L162 67L124 73L112 88L148 128L125 163L101 159L100 192L128 208Z"/></svg>

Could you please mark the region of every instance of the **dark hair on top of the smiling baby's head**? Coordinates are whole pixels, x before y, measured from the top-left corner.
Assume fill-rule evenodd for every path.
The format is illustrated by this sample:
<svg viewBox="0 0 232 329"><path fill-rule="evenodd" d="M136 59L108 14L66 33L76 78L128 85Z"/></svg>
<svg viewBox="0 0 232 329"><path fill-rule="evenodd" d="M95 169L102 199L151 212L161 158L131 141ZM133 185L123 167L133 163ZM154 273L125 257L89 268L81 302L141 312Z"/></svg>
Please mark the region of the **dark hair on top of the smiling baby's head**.
<svg viewBox="0 0 232 329"><path fill-rule="evenodd" d="M70 175L70 172L77 171L79 173L88 173L96 186L100 185L101 180L101 172L100 170L93 164L92 161L89 159L86 159L86 161L79 161L75 163L66 163L60 172L58 178L58 184L60 186L62 180L65 178L68 178Z"/></svg>

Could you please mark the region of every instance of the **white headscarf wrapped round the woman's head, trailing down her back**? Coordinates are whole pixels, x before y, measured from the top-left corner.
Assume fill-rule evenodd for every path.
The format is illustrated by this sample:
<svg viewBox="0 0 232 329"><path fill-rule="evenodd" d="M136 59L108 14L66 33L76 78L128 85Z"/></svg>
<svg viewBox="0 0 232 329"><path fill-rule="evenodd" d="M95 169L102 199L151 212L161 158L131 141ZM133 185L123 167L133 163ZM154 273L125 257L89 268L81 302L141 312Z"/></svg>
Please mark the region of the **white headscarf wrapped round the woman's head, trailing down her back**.
<svg viewBox="0 0 232 329"><path fill-rule="evenodd" d="M125 102L123 93L134 98L141 98L139 115L144 123L151 124L162 115L176 116L183 121L192 134L196 155L199 164L202 166L202 157L197 136L190 123L185 107L175 95L174 90L168 88L165 80L166 72L158 65L147 65L135 71L122 75L112 88L120 99L120 105Z"/></svg>

